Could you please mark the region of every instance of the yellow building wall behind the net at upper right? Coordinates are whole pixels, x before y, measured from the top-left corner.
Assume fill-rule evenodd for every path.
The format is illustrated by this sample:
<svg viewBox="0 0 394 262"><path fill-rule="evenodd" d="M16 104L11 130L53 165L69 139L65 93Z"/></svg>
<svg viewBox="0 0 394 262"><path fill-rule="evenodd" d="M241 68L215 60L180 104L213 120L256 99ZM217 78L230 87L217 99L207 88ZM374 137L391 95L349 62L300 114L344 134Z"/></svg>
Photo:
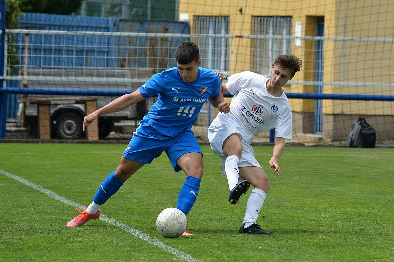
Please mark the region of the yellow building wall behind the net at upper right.
<svg viewBox="0 0 394 262"><path fill-rule="evenodd" d="M242 8L242 13L239 11ZM179 13L188 13L190 23L194 15L229 16L232 35L250 35L252 16L292 16L292 35L296 22L302 23L302 36L316 35L316 20L324 18L325 37L394 37L393 0L179 0ZM191 25L193 28L193 25ZM193 33L193 32L192 32ZM292 53L303 59L303 71L293 81L314 81L315 45L313 40L302 40L300 47L292 41ZM391 42L357 40L324 41L324 82L393 82L394 70ZM251 40L232 38L229 41L229 74L250 70ZM286 92L314 92L313 85L291 85ZM324 93L394 95L389 87L324 86ZM347 100L323 100L325 114L394 114L393 102L376 103ZM290 99L292 110L313 112L314 100ZM391 104L390 104L391 103Z"/></svg>

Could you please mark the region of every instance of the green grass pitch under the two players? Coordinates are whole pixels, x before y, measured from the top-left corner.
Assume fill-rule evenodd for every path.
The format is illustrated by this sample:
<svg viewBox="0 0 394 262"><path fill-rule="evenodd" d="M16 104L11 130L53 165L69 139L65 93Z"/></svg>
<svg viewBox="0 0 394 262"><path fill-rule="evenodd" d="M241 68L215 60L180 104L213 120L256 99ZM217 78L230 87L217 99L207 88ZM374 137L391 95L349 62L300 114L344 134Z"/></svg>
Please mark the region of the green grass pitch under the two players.
<svg viewBox="0 0 394 262"><path fill-rule="evenodd" d="M392 149L286 147L281 177L265 169L271 189L257 222L274 236L238 233L249 193L236 206L227 203L227 181L209 146L201 146L204 175L187 216L195 234L188 238L168 239L156 230L157 215L176 206L185 178L173 171L165 154L102 207L103 215L149 241L102 219L67 228L77 215L74 207L4 175L88 205L125 146L0 143L0 261L185 259L171 248L198 261L394 260ZM266 167L272 146L254 148Z"/></svg>

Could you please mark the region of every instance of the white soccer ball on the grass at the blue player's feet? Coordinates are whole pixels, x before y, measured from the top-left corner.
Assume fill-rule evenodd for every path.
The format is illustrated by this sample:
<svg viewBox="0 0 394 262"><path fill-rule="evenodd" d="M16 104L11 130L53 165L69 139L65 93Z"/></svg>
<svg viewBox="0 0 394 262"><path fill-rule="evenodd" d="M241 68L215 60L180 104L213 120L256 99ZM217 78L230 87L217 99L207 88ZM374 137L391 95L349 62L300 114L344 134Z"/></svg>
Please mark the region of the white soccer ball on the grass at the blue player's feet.
<svg viewBox="0 0 394 262"><path fill-rule="evenodd" d="M156 219L156 228L164 237L178 237L188 225L185 214L177 208L166 208Z"/></svg>

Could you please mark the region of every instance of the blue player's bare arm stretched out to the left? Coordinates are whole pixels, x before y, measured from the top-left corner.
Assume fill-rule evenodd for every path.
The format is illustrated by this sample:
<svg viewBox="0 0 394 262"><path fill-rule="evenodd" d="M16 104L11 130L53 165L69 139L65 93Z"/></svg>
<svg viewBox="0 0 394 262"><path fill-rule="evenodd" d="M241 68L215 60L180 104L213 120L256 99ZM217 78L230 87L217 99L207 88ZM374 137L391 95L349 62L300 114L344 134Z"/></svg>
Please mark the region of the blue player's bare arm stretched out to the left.
<svg viewBox="0 0 394 262"><path fill-rule="evenodd" d="M93 120L95 120L98 116L121 111L144 99L145 98L141 95L139 89L132 92L131 94L125 94L121 97L116 98L111 103L85 116L85 118L83 119L83 131L85 131L86 127L90 125Z"/></svg>

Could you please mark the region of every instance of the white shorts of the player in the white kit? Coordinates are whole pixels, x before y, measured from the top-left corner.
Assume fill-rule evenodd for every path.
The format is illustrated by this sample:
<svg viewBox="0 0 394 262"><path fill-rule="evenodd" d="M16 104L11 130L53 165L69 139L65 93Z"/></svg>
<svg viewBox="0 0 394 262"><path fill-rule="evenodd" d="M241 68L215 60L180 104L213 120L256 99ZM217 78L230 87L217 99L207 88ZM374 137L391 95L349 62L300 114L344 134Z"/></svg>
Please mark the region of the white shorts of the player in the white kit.
<svg viewBox="0 0 394 262"><path fill-rule="evenodd" d="M218 126L210 126L208 128L208 139L211 145L212 151L215 155L220 156L222 161L222 173L226 176L225 172L225 161L226 157L223 154L223 142L226 138L230 135L237 133L239 138L242 142L242 155L239 159L238 167L259 167L261 168L260 164L255 159L255 152L253 151L252 146L246 143L242 139L241 132L233 126L221 124Z"/></svg>

